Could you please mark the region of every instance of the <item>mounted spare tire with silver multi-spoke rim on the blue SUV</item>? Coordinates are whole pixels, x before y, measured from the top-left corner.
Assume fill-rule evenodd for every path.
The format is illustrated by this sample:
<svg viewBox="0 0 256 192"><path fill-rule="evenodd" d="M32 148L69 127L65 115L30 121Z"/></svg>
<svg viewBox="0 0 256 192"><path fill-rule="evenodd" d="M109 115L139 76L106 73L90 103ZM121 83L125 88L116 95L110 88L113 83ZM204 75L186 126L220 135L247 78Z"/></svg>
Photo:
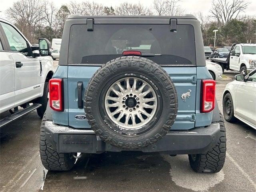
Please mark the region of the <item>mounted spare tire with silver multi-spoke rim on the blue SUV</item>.
<svg viewBox="0 0 256 192"><path fill-rule="evenodd" d="M177 115L178 98L162 67L146 58L126 56L95 72L86 88L84 110L102 140L135 149L167 134Z"/></svg>

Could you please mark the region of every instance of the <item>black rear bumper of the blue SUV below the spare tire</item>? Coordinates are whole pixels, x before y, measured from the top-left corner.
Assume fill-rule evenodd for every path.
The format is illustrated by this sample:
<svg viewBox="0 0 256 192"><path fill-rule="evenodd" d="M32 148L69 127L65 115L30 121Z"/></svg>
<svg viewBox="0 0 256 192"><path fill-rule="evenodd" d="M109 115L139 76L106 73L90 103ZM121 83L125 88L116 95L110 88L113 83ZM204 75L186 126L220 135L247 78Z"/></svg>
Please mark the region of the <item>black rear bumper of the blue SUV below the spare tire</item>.
<svg viewBox="0 0 256 192"><path fill-rule="evenodd" d="M94 134L93 130L59 126L52 121L45 122L45 136L46 140L59 153L102 153L106 151L120 152L127 150L104 142L99 136ZM158 142L133 150L167 152L168 154L199 154L212 148L218 142L219 136L220 124L214 122L208 127L170 131Z"/></svg>

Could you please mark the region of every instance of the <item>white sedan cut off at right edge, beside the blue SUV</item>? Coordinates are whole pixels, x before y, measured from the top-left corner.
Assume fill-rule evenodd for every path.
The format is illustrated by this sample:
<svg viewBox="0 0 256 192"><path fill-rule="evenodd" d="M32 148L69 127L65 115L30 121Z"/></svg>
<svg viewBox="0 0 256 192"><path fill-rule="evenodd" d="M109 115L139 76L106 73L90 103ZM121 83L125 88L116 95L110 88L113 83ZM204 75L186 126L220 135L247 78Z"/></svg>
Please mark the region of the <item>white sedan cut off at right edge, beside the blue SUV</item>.
<svg viewBox="0 0 256 192"><path fill-rule="evenodd" d="M222 106L226 121L238 118L256 129L256 69L247 76L236 75L236 80L226 85Z"/></svg>

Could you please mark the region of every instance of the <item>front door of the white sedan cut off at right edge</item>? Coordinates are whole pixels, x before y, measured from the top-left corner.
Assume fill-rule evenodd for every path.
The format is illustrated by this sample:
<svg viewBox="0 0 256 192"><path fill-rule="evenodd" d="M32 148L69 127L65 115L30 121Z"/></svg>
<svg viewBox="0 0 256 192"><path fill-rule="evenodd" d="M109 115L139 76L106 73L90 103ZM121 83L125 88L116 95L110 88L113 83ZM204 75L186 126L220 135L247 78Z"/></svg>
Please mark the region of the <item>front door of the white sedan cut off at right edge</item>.
<svg viewBox="0 0 256 192"><path fill-rule="evenodd" d="M256 126L256 71L238 85L235 114Z"/></svg>

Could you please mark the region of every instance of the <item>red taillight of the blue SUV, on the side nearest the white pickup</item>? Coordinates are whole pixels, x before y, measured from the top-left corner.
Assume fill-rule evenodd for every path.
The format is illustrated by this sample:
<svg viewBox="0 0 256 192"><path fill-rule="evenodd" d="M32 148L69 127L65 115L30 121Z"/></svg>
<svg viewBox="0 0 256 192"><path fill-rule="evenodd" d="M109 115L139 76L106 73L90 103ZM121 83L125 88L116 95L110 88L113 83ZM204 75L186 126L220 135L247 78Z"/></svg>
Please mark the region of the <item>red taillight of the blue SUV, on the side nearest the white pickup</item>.
<svg viewBox="0 0 256 192"><path fill-rule="evenodd" d="M55 111L63 111L62 79L49 80L50 107Z"/></svg>

